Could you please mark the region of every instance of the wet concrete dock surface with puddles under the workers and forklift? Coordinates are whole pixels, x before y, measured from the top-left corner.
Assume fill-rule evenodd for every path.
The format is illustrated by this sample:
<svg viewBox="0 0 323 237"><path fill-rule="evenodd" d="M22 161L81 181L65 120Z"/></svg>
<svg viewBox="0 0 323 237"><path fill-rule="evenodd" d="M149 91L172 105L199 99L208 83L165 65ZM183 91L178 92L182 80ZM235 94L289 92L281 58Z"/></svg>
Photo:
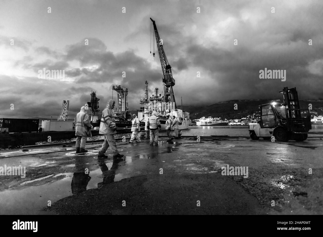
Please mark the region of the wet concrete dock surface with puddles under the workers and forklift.
<svg viewBox="0 0 323 237"><path fill-rule="evenodd" d="M0 214L323 213L320 138L118 141L118 162L110 150L97 158L101 144L0 151L0 166L26 167L25 178L0 176ZM248 177L222 175L226 165Z"/></svg>

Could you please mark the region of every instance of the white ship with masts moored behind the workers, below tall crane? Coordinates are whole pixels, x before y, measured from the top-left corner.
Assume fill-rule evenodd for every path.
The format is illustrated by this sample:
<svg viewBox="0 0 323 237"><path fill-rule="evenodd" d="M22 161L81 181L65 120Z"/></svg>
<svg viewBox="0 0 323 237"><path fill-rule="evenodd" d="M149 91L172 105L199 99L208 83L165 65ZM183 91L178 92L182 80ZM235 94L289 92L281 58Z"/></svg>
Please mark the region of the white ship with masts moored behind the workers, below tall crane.
<svg viewBox="0 0 323 237"><path fill-rule="evenodd" d="M166 131L166 115L169 114L171 119L175 116L178 120L179 130L188 129L191 123L190 113L176 107L176 102L171 102L167 98L167 87L164 86L164 95L158 94L159 88L155 88L155 94L149 97L148 82L145 81L145 97L140 99L140 110L138 111L139 121L144 122L146 117L151 116L156 111L161 122L159 131ZM175 97L172 94L173 99Z"/></svg>

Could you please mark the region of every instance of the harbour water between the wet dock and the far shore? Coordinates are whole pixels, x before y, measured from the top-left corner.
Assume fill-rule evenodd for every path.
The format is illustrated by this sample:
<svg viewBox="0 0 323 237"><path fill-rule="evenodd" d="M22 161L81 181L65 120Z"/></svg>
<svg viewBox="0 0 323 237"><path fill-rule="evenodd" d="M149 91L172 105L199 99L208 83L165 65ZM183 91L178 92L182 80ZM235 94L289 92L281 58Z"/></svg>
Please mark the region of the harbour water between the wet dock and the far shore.
<svg viewBox="0 0 323 237"><path fill-rule="evenodd" d="M312 130L310 132L321 132L323 133L323 126L322 125L312 125ZM166 132L160 132L161 136L166 136ZM174 136L174 132L172 133ZM188 129L182 130L183 136L249 136L248 126L192 126ZM122 138L123 136L126 136L126 138L129 138L131 136L130 133L118 133L115 135L115 138ZM309 134L309 136L322 136L320 134ZM104 136L93 136L88 137L87 141L95 141L104 139ZM76 138L72 138L69 140L62 139L57 141L52 141L51 143L64 143L64 142L76 142ZM48 144L49 142L39 142L36 144Z"/></svg>

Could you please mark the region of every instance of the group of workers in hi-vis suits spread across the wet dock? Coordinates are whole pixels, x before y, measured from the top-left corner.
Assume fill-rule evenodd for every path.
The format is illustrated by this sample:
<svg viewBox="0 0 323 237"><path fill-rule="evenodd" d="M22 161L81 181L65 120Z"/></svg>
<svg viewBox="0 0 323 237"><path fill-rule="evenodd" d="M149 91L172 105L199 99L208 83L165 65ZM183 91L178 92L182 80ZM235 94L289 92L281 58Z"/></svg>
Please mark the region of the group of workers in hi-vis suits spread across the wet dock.
<svg viewBox="0 0 323 237"><path fill-rule="evenodd" d="M116 146L116 139L114 138L114 134L117 133L117 127L113 115L112 109L115 106L114 100L109 100L107 106L102 111L102 118L99 127L99 134L103 134L105 139L102 144L101 150L99 151L98 158L108 158L105 155L105 152L111 147L113 152L113 160L119 160L124 155L121 155L118 152ZM88 152L85 150L85 143L87 136L91 136L91 128L93 126L90 123L89 115L87 114L88 107L82 106L81 111L76 114L75 116L75 136L77 136L76 140L76 153L85 153ZM136 138L136 142L141 142L140 140L140 121L136 114L132 115L133 119L131 122L131 138L129 143L133 143L134 139ZM169 138L167 141L171 141L172 135L171 130L175 131L175 139L178 138L178 120L173 116L173 120L170 118L170 115L166 115L166 132L167 137ZM159 131L158 128L161 128L161 123L159 121L159 117L157 116L157 112L153 111L150 117L146 117L145 121L145 131L146 131L146 139L150 137L150 145L158 146L158 135Z"/></svg>

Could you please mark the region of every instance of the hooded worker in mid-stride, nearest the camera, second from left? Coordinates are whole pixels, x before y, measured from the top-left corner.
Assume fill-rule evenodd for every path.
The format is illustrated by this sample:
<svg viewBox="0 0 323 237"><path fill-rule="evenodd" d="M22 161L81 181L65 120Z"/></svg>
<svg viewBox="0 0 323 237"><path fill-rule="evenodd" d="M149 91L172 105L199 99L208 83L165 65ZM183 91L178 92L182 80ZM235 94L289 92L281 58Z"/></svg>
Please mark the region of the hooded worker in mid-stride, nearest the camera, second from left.
<svg viewBox="0 0 323 237"><path fill-rule="evenodd" d="M118 160L123 157L123 155L118 152L116 139L114 138L114 134L117 133L117 126L112 111L114 105L114 100L109 100L107 107L105 107L105 109L102 111L99 134L103 134L105 139L101 150L99 151L98 158L108 158L108 156L104 153L107 151L109 146L113 152L113 160Z"/></svg>

